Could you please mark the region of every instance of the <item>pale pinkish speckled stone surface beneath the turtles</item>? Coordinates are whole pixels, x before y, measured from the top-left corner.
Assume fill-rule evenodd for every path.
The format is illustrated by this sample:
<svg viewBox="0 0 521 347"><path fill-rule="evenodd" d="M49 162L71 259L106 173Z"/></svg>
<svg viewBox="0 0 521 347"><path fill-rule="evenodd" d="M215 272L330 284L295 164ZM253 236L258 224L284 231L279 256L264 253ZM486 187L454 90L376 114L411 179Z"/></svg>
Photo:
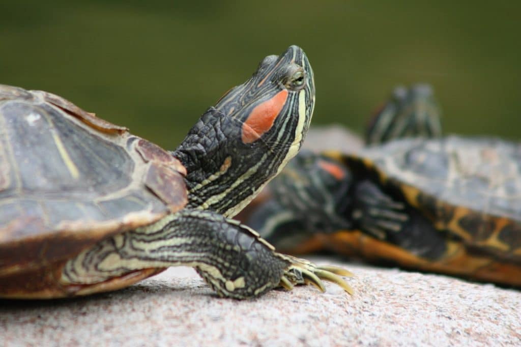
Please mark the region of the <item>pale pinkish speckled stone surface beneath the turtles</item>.
<svg viewBox="0 0 521 347"><path fill-rule="evenodd" d="M190 268L86 298L0 301L0 345L521 345L521 292L314 258L355 295L297 287L219 299Z"/></svg>

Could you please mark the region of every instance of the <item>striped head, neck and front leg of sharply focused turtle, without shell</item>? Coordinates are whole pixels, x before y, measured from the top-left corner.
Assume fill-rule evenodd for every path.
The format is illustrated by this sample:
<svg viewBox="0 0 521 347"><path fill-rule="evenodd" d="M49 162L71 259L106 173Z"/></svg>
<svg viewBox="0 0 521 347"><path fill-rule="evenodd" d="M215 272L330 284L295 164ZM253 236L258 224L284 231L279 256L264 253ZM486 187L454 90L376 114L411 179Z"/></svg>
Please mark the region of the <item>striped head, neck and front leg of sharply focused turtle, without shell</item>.
<svg viewBox="0 0 521 347"><path fill-rule="evenodd" d="M279 57L266 57L171 152L187 168L186 208L84 250L67 262L61 282L85 285L140 269L187 265L219 295L235 299L308 282L323 290L320 278L350 292L337 276L347 271L277 253L255 231L227 219L299 151L314 98L313 72L302 49L291 46ZM265 121L259 119L262 111Z"/></svg>

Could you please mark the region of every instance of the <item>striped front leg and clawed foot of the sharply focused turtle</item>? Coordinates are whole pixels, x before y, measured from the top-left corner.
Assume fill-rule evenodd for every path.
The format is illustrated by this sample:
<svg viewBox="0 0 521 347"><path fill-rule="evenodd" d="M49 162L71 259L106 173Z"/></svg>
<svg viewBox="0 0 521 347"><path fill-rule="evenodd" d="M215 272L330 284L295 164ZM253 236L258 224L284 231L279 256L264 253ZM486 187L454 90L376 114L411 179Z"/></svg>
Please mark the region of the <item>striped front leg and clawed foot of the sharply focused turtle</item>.
<svg viewBox="0 0 521 347"><path fill-rule="evenodd" d="M61 280L92 284L139 269L178 265L194 267L220 296L234 299L305 283L323 291L321 279L351 292L338 276L349 275L348 271L277 253L240 222L194 209L183 209L151 226L94 245L67 262Z"/></svg>

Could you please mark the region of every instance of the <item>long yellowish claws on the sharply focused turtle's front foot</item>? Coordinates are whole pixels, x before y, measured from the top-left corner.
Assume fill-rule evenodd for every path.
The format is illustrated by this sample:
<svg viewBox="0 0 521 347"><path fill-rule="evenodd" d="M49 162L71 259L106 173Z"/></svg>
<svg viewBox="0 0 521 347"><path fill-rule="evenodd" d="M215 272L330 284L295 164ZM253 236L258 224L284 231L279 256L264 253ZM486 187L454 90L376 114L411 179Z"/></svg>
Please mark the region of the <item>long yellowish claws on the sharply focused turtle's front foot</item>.
<svg viewBox="0 0 521 347"><path fill-rule="evenodd" d="M305 259L284 255L290 262L290 266L284 270L279 285L287 290L293 289L296 284L313 284L321 292L326 288L322 280L337 283L343 290L353 294L353 289L340 276L352 277L353 274L336 266L318 266Z"/></svg>

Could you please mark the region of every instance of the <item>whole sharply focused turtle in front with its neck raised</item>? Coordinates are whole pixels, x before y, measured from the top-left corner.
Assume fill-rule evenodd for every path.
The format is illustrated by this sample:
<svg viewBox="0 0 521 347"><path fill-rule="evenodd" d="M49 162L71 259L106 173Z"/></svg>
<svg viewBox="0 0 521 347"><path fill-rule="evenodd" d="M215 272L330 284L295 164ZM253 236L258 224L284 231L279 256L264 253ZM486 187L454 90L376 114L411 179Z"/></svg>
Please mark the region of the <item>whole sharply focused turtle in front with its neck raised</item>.
<svg viewBox="0 0 521 347"><path fill-rule="evenodd" d="M339 267L278 253L232 219L299 151L315 103L298 46L265 57L174 150L44 91L0 86L0 298L113 291L195 268L221 297L322 280Z"/></svg>

